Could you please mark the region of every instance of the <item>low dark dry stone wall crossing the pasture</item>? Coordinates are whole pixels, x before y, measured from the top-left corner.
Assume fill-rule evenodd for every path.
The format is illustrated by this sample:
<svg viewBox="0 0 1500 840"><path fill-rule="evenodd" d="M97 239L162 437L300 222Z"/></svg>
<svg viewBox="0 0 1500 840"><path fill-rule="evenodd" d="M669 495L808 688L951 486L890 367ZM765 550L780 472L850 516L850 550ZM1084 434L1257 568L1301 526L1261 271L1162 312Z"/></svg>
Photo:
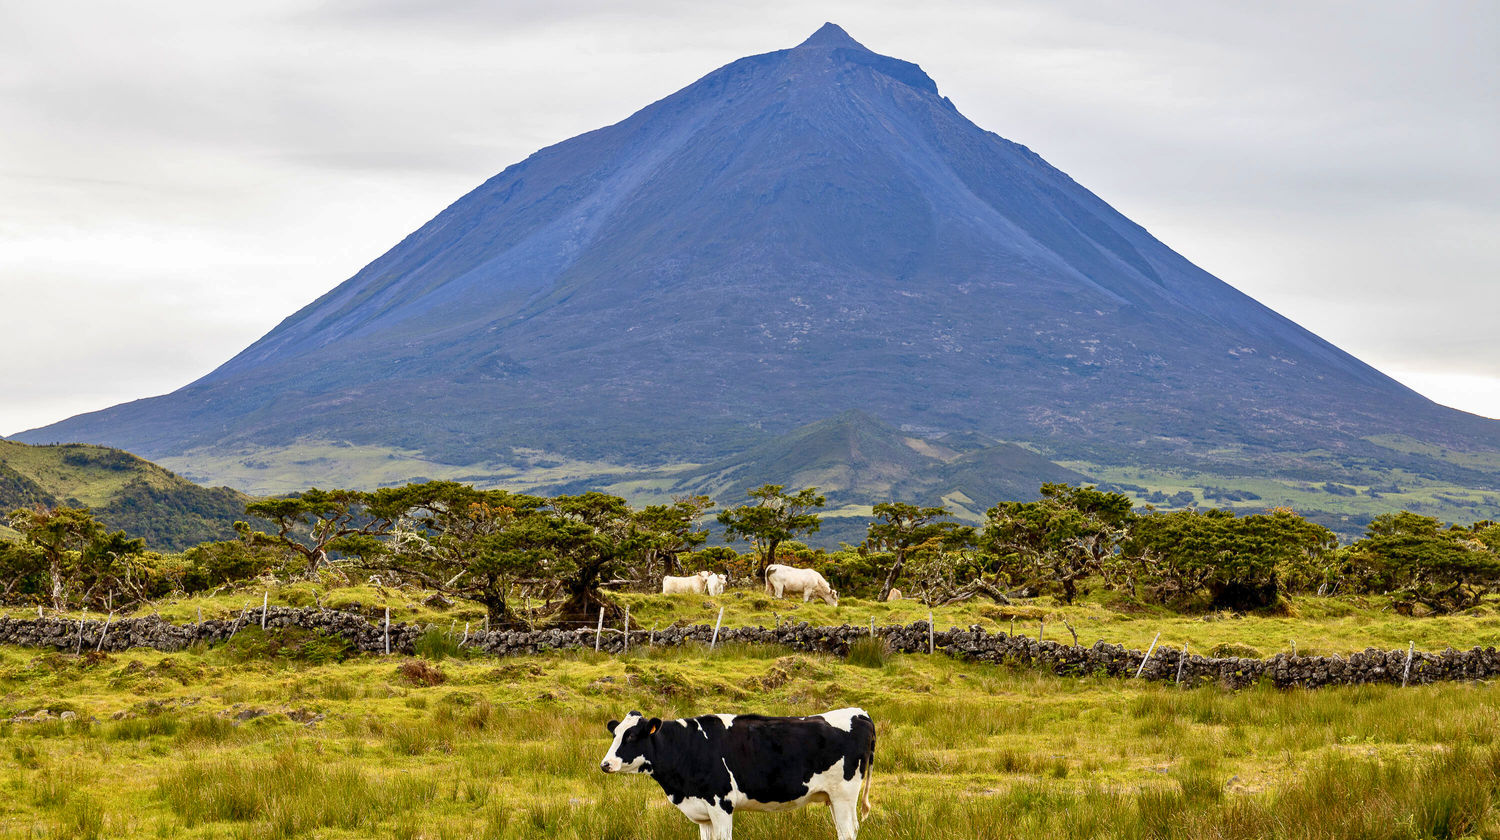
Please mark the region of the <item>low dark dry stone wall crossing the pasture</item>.
<svg viewBox="0 0 1500 840"><path fill-rule="evenodd" d="M78 651L123 651L129 648L154 648L180 651L192 645L218 645L248 626L260 626L261 610L252 609L240 618L214 620L194 624L171 624L159 616L124 618L106 622L102 620L64 618L3 618L0 616L0 644L32 648L54 648L66 652ZM386 651L386 632L368 618L330 609L268 608L267 630L302 627L338 636L352 648L380 654ZM417 639L428 630L420 624L392 624L390 651L411 654ZM837 626L813 627L806 622L766 627L724 627L718 642L744 642L758 645L782 645L798 651L846 656L849 645L870 634L868 627ZM926 621L906 626L876 627L874 634L892 651L927 652L928 627ZM668 627L664 630L632 630L630 646L645 645L708 645L714 628L706 624ZM102 638L102 640L100 640ZM606 630L600 650L620 652L626 645L620 630ZM1146 654L1122 645L1096 642L1092 646L1065 645L1060 642L1038 642L1026 636L988 633L978 626L968 630L950 628L932 633L934 652L988 663L1038 668L1059 675L1100 674L1131 678L1140 672L1143 680L1180 681L1184 684L1220 684L1240 688L1268 680L1280 687L1320 687L1386 682L1412 684L1452 680L1488 680L1500 675L1500 651L1496 648L1473 648L1442 652L1413 652L1410 663L1407 651L1365 650L1347 657L1305 657L1276 654L1270 658L1184 657L1180 650L1158 646ZM490 630L471 633L466 648L476 648L492 656L537 654L558 650L594 646L594 628L550 630ZM1142 660L1146 666L1142 668Z"/></svg>

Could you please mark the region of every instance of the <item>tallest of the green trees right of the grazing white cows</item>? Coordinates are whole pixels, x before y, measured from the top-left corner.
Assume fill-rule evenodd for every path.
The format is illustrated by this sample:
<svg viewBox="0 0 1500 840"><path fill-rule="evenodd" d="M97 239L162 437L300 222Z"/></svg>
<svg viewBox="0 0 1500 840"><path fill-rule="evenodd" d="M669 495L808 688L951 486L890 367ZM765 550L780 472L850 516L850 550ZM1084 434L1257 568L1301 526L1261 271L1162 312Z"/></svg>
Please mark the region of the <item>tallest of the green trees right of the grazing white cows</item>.
<svg viewBox="0 0 1500 840"><path fill-rule="evenodd" d="M1078 580L1106 570L1134 519L1132 504L1124 494L1047 483L1040 501L992 507L981 546L1058 584L1072 603Z"/></svg>

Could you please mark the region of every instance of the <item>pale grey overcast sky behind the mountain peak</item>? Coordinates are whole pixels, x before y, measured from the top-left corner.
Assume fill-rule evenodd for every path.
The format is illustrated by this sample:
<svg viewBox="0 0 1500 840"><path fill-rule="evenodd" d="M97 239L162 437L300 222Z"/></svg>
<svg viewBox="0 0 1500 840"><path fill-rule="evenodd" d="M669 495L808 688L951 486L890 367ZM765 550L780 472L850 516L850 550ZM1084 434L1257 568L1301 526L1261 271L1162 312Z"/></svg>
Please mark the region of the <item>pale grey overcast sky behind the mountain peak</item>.
<svg viewBox="0 0 1500 840"><path fill-rule="evenodd" d="M534 150L825 20L1500 417L1500 3L0 0L0 434L174 390Z"/></svg>

